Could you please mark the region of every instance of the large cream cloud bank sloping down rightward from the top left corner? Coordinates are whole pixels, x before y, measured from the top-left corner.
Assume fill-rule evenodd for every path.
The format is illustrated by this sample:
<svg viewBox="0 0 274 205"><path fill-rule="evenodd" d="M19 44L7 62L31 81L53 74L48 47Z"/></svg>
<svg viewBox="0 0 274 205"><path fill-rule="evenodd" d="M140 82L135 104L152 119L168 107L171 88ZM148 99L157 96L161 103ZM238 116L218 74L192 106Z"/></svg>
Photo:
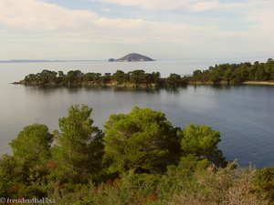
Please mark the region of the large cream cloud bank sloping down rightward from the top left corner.
<svg viewBox="0 0 274 205"><path fill-rule="evenodd" d="M163 4L159 3L160 5ZM204 5L198 5L203 7ZM206 5L207 6L207 5ZM199 8L201 9L201 8ZM108 18L88 10L72 10L41 0L1 0L0 26L10 36L94 43L187 42L202 26L144 19Z"/></svg>

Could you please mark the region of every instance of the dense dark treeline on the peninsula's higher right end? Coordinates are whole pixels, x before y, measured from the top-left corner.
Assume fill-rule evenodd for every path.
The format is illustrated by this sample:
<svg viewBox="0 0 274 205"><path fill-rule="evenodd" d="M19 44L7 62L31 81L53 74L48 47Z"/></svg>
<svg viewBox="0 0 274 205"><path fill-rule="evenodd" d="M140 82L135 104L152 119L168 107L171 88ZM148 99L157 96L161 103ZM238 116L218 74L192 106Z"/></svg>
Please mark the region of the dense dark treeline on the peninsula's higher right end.
<svg viewBox="0 0 274 205"><path fill-rule="evenodd" d="M193 77L189 77L192 84L224 84L237 85L244 81L273 81L274 61L272 58L266 63L221 64L209 67L207 70L195 70Z"/></svg>

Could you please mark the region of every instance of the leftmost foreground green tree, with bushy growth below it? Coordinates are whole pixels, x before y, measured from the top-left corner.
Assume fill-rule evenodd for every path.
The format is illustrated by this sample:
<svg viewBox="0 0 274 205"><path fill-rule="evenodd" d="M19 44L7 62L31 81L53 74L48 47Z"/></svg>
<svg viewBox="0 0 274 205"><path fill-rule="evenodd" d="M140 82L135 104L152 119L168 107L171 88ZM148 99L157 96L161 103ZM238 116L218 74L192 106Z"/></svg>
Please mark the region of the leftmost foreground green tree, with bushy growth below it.
<svg viewBox="0 0 274 205"><path fill-rule="evenodd" d="M27 197L28 191L42 193L40 185L48 174L47 161L51 158L52 135L46 125L26 126L10 143L13 157L1 159L0 185L2 196ZM33 185L36 184L37 188ZM44 192L45 193L45 192ZM45 196L46 194L43 194Z"/></svg>

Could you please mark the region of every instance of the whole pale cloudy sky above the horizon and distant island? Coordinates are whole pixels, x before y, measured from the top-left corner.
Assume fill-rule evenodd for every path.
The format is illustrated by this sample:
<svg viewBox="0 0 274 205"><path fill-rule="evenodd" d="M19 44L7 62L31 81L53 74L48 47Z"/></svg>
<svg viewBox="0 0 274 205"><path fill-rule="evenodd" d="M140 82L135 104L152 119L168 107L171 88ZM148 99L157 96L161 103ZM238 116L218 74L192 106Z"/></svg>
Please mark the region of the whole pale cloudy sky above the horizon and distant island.
<svg viewBox="0 0 274 205"><path fill-rule="evenodd" d="M0 60L274 56L273 0L0 0Z"/></svg>

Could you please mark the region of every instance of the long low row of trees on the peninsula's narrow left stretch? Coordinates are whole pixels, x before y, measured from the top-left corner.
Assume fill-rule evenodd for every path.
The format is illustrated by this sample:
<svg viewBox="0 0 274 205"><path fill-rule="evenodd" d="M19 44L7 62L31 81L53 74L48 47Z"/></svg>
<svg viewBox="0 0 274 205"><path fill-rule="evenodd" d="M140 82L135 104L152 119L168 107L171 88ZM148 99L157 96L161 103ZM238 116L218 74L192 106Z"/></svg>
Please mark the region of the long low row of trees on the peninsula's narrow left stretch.
<svg viewBox="0 0 274 205"><path fill-rule="evenodd" d="M117 70L111 73L82 73L80 70L70 70L67 74L62 71L43 70L30 74L18 82L32 86L121 86L121 87L179 87L186 81L180 75L171 74L161 78L159 72L146 73L143 70L133 70L124 73Z"/></svg>

